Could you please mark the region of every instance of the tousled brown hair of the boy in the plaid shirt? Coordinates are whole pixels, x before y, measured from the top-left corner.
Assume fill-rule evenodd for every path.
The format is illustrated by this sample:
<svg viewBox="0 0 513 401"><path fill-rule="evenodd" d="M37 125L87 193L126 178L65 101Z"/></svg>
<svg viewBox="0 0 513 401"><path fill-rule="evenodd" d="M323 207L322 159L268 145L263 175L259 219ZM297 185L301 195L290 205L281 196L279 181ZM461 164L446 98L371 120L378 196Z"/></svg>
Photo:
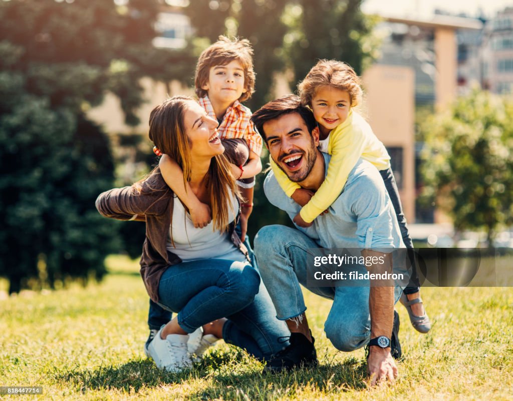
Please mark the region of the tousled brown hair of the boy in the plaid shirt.
<svg viewBox="0 0 513 401"><path fill-rule="evenodd" d="M239 39L235 37L230 39L226 36L219 36L214 44L207 47L198 59L196 72L194 74L194 87L198 97L207 95L207 91L202 89L208 82L210 68L214 66L225 66L233 60L241 63L244 69L244 88L246 92L239 97L239 102L244 102L254 93L255 73L253 71L253 48L248 39Z"/></svg>

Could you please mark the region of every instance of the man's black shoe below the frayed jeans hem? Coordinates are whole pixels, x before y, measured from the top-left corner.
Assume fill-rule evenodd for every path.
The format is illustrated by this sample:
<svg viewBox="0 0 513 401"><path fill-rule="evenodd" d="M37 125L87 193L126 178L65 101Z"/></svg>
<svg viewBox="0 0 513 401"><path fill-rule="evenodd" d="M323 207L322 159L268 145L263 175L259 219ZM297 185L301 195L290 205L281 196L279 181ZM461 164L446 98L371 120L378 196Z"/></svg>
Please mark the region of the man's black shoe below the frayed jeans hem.
<svg viewBox="0 0 513 401"><path fill-rule="evenodd" d="M310 333L311 335L311 333ZM284 350L273 355L271 360L264 368L264 372L289 371L300 367L319 366L317 352L315 352L315 338L312 342L308 341L301 333L290 333L290 337L284 337L290 340L290 345Z"/></svg>

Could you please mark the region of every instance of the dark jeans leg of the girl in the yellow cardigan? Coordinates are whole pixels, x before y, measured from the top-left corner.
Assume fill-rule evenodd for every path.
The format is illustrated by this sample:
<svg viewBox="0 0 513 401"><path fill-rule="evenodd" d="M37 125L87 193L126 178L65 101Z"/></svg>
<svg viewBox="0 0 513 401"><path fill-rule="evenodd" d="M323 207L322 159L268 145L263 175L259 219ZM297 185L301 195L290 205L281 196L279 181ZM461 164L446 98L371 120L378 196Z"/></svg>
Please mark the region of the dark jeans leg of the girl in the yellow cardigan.
<svg viewBox="0 0 513 401"><path fill-rule="evenodd" d="M392 202L393 209L396 211L397 222L399 223L399 228L401 229L401 236L403 237L404 245L406 248L413 249L413 243L411 241L410 234L408 232L408 226L406 224L406 217L403 213L403 206L401 205L401 199L399 197L399 190L397 189L396 179L393 177L392 169L380 170L381 177L385 183L385 188L388 192L388 196L390 196L390 201ZM420 288L418 287L419 279L417 274L417 264L415 263L415 254L413 252L408 252L408 255L411 259L411 281L408 287L404 289L405 294L415 294L419 292Z"/></svg>

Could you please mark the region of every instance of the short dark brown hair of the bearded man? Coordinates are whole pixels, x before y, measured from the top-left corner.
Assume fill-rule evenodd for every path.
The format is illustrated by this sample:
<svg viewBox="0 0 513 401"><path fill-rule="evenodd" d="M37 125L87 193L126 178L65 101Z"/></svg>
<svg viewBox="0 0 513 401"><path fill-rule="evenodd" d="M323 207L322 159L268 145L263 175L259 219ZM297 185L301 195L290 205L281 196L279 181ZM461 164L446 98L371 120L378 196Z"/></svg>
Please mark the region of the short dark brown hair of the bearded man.
<svg viewBox="0 0 513 401"><path fill-rule="evenodd" d="M313 118L313 113L309 109L301 106L301 99L296 95L285 95L266 103L253 113L251 121L257 127L264 141L267 142L264 124L275 118L280 118L282 115L292 113L298 113L303 118L308 132L311 134L316 125L315 118Z"/></svg>

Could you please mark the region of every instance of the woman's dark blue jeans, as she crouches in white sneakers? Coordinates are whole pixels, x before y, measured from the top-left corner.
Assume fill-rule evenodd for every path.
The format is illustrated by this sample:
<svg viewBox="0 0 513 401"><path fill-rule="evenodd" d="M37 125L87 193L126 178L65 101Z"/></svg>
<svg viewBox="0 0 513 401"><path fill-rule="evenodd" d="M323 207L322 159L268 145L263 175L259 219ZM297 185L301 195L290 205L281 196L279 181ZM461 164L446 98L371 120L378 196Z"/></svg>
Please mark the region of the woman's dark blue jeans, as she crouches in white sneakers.
<svg viewBox="0 0 513 401"><path fill-rule="evenodd" d="M160 304L178 313L178 324L188 333L212 320L226 317L226 343L268 359L287 343L290 333L275 318L275 309L259 272L245 262L203 259L170 266L159 284Z"/></svg>

